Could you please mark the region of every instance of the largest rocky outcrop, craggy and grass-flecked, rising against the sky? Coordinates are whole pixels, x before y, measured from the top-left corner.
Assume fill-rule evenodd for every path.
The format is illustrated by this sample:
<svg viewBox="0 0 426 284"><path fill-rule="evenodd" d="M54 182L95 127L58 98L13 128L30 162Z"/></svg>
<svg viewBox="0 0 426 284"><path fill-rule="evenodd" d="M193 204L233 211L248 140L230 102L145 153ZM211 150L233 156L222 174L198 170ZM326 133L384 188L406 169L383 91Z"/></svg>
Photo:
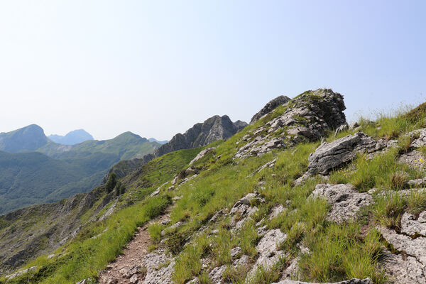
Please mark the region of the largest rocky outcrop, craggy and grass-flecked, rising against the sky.
<svg viewBox="0 0 426 284"><path fill-rule="evenodd" d="M346 124L343 96L331 89L305 92L285 104L282 115L248 133L235 158L263 155L274 148L320 139L327 130Z"/></svg>

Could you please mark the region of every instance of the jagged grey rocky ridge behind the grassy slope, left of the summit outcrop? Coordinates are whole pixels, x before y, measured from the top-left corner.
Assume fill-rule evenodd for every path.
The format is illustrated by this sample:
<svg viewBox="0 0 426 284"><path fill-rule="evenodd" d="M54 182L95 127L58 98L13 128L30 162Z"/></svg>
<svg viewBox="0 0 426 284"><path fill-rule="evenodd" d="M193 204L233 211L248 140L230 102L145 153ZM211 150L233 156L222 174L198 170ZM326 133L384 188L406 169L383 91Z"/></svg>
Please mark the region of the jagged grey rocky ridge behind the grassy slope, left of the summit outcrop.
<svg viewBox="0 0 426 284"><path fill-rule="evenodd" d="M155 149L152 154L144 155L142 158L124 160L117 163L109 170L109 173L115 173L117 178L123 178L133 172L133 170L148 163L150 160L173 151L207 146L214 141L225 140L241 129L244 129L247 125L248 124L244 121L232 122L229 116L226 115L212 116L202 123L195 124L185 133L176 134L168 143ZM102 183L107 182L107 178L108 175L104 178Z"/></svg>

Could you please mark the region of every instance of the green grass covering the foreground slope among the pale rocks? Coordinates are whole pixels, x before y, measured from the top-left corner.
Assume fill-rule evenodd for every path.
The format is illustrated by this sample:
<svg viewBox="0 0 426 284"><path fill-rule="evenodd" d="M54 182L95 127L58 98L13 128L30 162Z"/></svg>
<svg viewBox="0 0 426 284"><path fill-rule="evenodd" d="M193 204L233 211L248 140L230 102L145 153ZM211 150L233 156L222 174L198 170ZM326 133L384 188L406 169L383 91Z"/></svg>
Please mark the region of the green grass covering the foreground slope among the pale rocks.
<svg viewBox="0 0 426 284"><path fill-rule="evenodd" d="M171 213L172 224L185 221L184 226L170 232L166 242L170 251L177 256L173 275L175 283L185 283L195 275L200 277L202 283L209 283L207 275L202 272L200 258L209 256L214 260L214 266L229 264L231 263L229 249L237 245L241 246L243 252L251 256L252 260L256 259L256 251L253 251L253 247L256 246L259 237L256 234L254 222L266 217L276 204L283 204L287 209L275 219L263 220L263 224L270 229L279 228L288 234L288 239L282 247L288 253L288 257L283 258L269 271L260 268L253 283L273 283L278 280L280 270L285 268L290 258L300 253L300 249L295 246L298 243L306 246L311 252L301 255L300 276L304 280L324 282L370 277L374 283L384 283L386 278L378 261L381 248L386 244L382 243L374 227L379 223L394 226L404 210L418 212L424 209L426 197L412 195L403 199L391 194L383 197L374 195L376 204L364 209L356 222L343 225L327 222L325 220L329 210L327 203L324 200L307 198L317 183L326 181L316 177L308 180L304 185L297 187L293 185L295 178L300 177L307 169L307 157L315 151L318 143L302 143L285 151L273 151L261 158L232 160L234 153L241 147L236 145L236 141L270 120L271 117L278 116L282 111L282 108L278 108L267 118L256 122L254 126L248 126L228 141L220 143L215 153L210 153L195 164L203 169L200 175L178 187L176 192L163 192L159 197L143 200L143 197L155 187L170 181L173 177L171 172L163 176L163 172L160 173L160 169L155 168L161 165L150 164L152 168L148 175L129 178L133 185L148 184L149 190L136 186L124 197L124 200L132 202L142 201L120 210L105 222L87 226L84 233L80 233L70 246L63 249L65 254L59 261L39 258L38 261L28 264L28 266L38 265L37 272L13 280L11 283L23 283L24 278L37 279L41 283L75 283L77 280L96 276L97 272L104 268L108 261L113 260L122 246L129 241L136 226L158 214L160 209L168 204L170 195L183 197ZM395 158L405 148L406 141L402 134L421 127L421 124L402 114L381 116L375 124L367 124L363 119L360 122L361 130L371 136L398 138L400 148L378 155L370 163L366 163L364 156L360 155L352 165L332 173L329 182L352 182L360 191L366 191L375 186L381 191L391 192L391 190L400 190L401 176L405 177L403 179L408 179L425 175L420 170L411 170L398 164ZM339 133L337 137L330 135L327 140L332 141L349 133L353 132L345 131ZM273 158L277 158L274 168L266 168L251 175ZM383 163L387 166L380 166ZM183 165L181 168L185 168L184 163L181 165ZM168 167L173 168L173 165L169 164ZM353 168L354 170L351 170ZM173 171L177 173L178 168ZM259 181L265 183L259 185ZM231 236L227 227L229 220L222 217L218 222L210 224L204 234L193 238L192 245L182 246L186 236L194 234L197 229L207 224L207 220L215 212L224 208L230 209L236 200L253 190L260 192L266 203L258 204L260 210L255 214L254 222L246 224L239 232L239 236ZM97 239L89 239L104 229L107 231ZM209 236L209 231L212 229L219 229L219 234ZM151 231L159 241L160 237L155 234L158 230L153 228ZM189 270L188 267L192 269ZM243 283L246 272L244 268L234 269L229 266L225 277L233 280L233 283Z"/></svg>

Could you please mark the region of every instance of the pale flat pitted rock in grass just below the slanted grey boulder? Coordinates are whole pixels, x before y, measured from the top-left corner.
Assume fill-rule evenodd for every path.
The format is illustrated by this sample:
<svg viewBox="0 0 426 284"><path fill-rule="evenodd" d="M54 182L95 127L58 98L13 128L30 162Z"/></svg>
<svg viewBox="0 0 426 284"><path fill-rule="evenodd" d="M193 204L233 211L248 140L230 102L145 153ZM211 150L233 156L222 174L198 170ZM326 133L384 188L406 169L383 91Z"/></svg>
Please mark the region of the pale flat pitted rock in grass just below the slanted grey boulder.
<svg viewBox="0 0 426 284"><path fill-rule="evenodd" d="M358 192L352 185L320 184L315 187L311 196L327 199L332 205L327 219L337 223L353 219L361 207L373 203L371 195Z"/></svg>

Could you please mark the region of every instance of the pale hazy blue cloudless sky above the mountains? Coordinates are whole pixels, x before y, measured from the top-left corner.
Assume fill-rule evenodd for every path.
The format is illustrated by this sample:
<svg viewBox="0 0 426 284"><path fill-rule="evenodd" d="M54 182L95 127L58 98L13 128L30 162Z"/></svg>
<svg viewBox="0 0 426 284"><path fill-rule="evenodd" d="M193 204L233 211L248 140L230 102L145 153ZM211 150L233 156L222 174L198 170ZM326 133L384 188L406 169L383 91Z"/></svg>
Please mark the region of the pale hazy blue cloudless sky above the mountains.
<svg viewBox="0 0 426 284"><path fill-rule="evenodd" d="M0 132L170 139L332 88L349 121L426 100L426 1L0 1Z"/></svg>

